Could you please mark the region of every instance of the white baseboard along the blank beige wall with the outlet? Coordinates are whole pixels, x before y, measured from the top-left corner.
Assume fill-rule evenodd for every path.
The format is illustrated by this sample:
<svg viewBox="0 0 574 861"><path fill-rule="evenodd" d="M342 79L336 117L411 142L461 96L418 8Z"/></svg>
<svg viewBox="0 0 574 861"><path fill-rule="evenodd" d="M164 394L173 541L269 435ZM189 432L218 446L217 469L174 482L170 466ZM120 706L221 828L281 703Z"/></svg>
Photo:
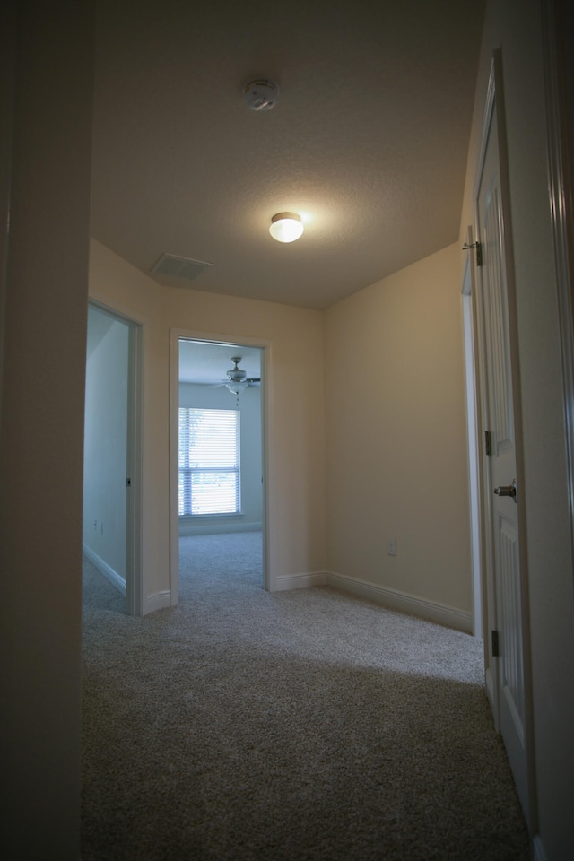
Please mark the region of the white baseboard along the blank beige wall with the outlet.
<svg viewBox="0 0 574 861"><path fill-rule="evenodd" d="M377 586L374 583L368 583L366 580L346 577L344 574L336 574L334 571L327 573L326 585L341 589L343 592L350 592L352 595L364 598L367 601L384 604L386 607L398 610L400 613L419 616L423 619L428 619L430 622L437 622L439 625L446 625L448 628L456 628L457 631L464 631L466 634L472 634L473 632L473 614L458 607L440 604L438 601L429 601L427 598L410 595L408 592L400 592L398 589Z"/></svg>

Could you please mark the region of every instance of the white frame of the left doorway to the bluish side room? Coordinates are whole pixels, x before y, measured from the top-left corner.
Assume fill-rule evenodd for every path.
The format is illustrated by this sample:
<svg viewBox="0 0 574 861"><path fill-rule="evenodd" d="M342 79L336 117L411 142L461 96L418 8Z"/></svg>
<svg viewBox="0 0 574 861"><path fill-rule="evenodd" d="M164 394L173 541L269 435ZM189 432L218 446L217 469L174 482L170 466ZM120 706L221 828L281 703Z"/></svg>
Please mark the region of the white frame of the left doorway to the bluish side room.
<svg viewBox="0 0 574 861"><path fill-rule="evenodd" d="M128 330L126 433L126 613L143 615L142 582L142 324L104 302L88 305L123 323Z"/></svg>

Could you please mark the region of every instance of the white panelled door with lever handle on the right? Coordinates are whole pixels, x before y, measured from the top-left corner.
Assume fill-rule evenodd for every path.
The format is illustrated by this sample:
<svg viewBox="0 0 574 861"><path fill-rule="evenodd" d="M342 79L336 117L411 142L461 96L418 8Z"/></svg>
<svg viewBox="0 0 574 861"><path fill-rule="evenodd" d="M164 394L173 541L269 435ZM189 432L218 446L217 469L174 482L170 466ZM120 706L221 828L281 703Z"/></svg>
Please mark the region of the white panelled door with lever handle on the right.
<svg viewBox="0 0 574 861"><path fill-rule="evenodd" d="M483 491L487 544L487 613L492 636L487 644L487 684L528 819L526 768L525 665L518 542L521 488L517 477L509 327L509 268L505 248L504 189L500 178L500 129L494 78L483 130L483 151L475 185L478 305L482 322ZM506 224L508 231L508 223ZM481 260L479 257L479 264ZM490 453L489 453L490 451ZM488 680L487 680L488 681Z"/></svg>

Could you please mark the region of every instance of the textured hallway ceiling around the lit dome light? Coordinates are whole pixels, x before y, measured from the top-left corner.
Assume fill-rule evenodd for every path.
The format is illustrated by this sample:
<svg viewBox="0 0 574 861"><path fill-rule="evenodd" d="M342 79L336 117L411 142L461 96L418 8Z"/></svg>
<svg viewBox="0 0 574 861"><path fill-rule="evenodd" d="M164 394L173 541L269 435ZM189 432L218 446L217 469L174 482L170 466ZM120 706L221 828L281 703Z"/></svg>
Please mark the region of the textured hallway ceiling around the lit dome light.
<svg viewBox="0 0 574 861"><path fill-rule="evenodd" d="M159 283L322 309L457 240L483 0L97 5L92 234L212 264Z"/></svg>

